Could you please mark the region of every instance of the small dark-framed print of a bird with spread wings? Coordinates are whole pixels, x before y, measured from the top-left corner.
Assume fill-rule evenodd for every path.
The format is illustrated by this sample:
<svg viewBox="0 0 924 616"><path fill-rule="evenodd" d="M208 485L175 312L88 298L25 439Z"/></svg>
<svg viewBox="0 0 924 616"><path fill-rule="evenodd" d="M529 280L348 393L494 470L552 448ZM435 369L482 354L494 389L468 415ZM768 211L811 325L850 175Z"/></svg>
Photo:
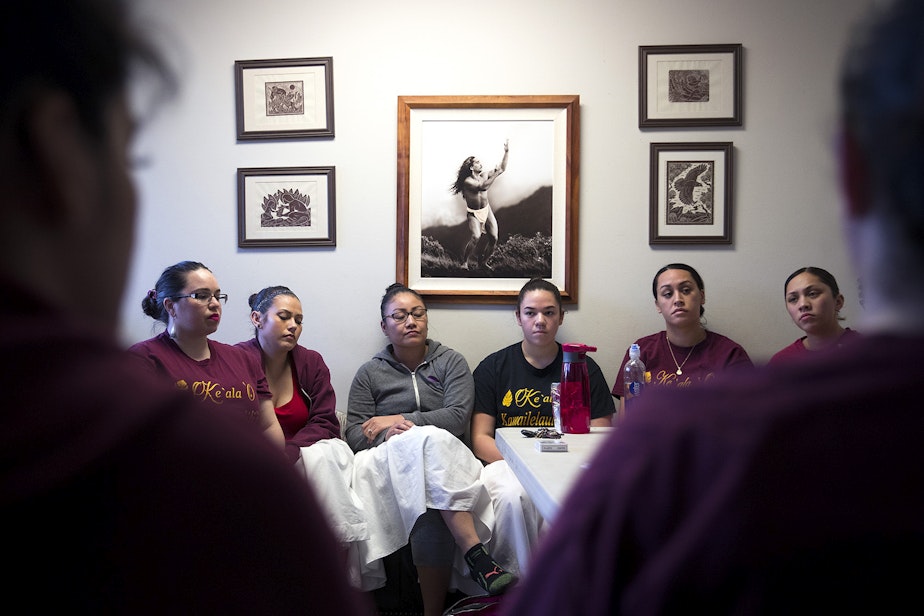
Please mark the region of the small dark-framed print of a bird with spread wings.
<svg viewBox="0 0 924 616"><path fill-rule="evenodd" d="M652 143L649 244L731 244L734 146Z"/></svg>

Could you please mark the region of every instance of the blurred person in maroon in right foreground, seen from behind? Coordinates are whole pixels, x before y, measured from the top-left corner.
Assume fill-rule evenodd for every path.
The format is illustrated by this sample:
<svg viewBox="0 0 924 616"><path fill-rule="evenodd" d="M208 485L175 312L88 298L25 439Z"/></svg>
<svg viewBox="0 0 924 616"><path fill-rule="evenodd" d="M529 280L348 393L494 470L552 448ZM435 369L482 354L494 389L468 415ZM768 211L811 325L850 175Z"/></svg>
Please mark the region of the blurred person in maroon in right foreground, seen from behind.
<svg viewBox="0 0 924 616"><path fill-rule="evenodd" d="M652 390L508 614L889 614L924 573L924 3L852 39L845 227L868 292L837 354Z"/></svg>

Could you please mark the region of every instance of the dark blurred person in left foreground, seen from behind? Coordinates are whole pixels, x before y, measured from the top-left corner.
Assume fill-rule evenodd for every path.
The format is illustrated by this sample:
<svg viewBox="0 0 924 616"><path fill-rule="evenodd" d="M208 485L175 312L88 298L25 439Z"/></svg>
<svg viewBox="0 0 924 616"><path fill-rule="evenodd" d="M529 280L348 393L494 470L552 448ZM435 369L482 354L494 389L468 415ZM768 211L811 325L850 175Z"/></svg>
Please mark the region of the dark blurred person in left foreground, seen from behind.
<svg viewBox="0 0 924 616"><path fill-rule="evenodd" d="M138 60L164 74L123 8L26 3L0 25L0 588L31 613L365 613L267 439L115 344L125 92Z"/></svg>

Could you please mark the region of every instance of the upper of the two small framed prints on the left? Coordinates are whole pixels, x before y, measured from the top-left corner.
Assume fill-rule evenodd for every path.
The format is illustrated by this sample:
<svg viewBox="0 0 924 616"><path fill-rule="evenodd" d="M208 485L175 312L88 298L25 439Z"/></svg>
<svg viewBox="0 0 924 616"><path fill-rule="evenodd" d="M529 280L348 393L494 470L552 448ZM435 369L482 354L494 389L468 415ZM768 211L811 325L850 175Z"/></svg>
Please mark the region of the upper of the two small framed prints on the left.
<svg viewBox="0 0 924 616"><path fill-rule="evenodd" d="M333 137L333 73L330 57L235 62L238 140Z"/></svg>

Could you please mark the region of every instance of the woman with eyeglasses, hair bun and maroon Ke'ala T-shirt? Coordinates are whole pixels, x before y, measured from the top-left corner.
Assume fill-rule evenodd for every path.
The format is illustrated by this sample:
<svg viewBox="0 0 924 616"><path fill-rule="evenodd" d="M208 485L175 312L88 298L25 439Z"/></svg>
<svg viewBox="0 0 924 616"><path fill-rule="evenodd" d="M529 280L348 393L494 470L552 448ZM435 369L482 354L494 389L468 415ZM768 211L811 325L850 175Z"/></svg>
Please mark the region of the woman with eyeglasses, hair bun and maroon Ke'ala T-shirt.
<svg viewBox="0 0 924 616"><path fill-rule="evenodd" d="M240 413L281 449L285 438L259 361L241 349L209 340L227 299L203 264L171 265L141 300L144 313L164 323L166 330L132 345L130 356L206 407Z"/></svg>

